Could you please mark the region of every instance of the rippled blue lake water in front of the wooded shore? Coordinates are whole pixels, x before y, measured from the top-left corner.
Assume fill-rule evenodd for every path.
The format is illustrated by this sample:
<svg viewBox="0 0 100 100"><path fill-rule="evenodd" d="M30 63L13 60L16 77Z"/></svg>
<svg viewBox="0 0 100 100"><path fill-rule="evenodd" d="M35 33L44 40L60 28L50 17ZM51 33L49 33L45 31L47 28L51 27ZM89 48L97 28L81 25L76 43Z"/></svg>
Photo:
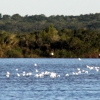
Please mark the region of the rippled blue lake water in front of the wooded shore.
<svg viewBox="0 0 100 100"><path fill-rule="evenodd" d="M100 100L100 59L0 59L0 100Z"/></svg>

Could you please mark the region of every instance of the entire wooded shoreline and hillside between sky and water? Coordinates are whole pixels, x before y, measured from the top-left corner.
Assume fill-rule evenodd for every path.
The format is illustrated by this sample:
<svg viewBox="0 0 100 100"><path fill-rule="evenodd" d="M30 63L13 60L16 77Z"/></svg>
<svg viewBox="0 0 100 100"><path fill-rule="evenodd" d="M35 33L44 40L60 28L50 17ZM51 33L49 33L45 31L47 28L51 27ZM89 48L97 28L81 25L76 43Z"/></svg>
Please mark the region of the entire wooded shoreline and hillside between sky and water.
<svg viewBox="0 0 100 100"><path fill-rule="evenodd" d="M0 17L0 57L98 57L100 14Z"/></svg>

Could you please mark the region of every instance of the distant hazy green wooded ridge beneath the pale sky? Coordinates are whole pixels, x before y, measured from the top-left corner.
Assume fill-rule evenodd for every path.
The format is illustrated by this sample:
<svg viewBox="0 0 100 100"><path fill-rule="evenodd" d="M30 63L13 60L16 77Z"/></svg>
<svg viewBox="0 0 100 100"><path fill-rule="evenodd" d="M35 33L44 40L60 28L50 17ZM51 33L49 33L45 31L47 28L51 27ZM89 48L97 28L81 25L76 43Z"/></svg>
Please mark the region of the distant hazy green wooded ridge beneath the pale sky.
<svg viewBox="0 0 100 100"><path fill-rule="evenodd" d="M80 16L49 16L31 15L21 16L19 14L0 14L0 30L7 32L33 32L43 30L53 24L57 30L67 29L91 29L100 30L100 14L89 14Z"/></svg>

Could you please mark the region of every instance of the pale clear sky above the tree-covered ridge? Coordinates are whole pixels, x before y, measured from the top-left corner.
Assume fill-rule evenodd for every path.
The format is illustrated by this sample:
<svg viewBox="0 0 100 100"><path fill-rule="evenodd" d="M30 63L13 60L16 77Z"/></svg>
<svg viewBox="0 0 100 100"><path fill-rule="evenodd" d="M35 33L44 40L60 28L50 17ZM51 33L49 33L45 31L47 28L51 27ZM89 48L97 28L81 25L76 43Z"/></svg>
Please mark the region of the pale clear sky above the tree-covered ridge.
<svg viewBox="0 0 100 100"><path fill-rule="evenodd" d="M2 15L80 15L100 13L100 0L0 0Z"/></svg>

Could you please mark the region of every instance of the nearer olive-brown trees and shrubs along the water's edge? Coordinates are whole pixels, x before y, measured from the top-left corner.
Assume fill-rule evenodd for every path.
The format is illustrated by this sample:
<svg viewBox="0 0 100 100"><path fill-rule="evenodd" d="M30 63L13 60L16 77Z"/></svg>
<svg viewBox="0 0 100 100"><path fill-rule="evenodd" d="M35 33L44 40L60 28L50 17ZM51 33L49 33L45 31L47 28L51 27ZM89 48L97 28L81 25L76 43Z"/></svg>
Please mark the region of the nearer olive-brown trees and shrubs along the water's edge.
<svg viewBox="0 0 100 100"><path fill-rule="evenodd" d="M99 31L57 30L50 25L34 32L0 32L0 57L98 57L99 53Z"/></svg>

